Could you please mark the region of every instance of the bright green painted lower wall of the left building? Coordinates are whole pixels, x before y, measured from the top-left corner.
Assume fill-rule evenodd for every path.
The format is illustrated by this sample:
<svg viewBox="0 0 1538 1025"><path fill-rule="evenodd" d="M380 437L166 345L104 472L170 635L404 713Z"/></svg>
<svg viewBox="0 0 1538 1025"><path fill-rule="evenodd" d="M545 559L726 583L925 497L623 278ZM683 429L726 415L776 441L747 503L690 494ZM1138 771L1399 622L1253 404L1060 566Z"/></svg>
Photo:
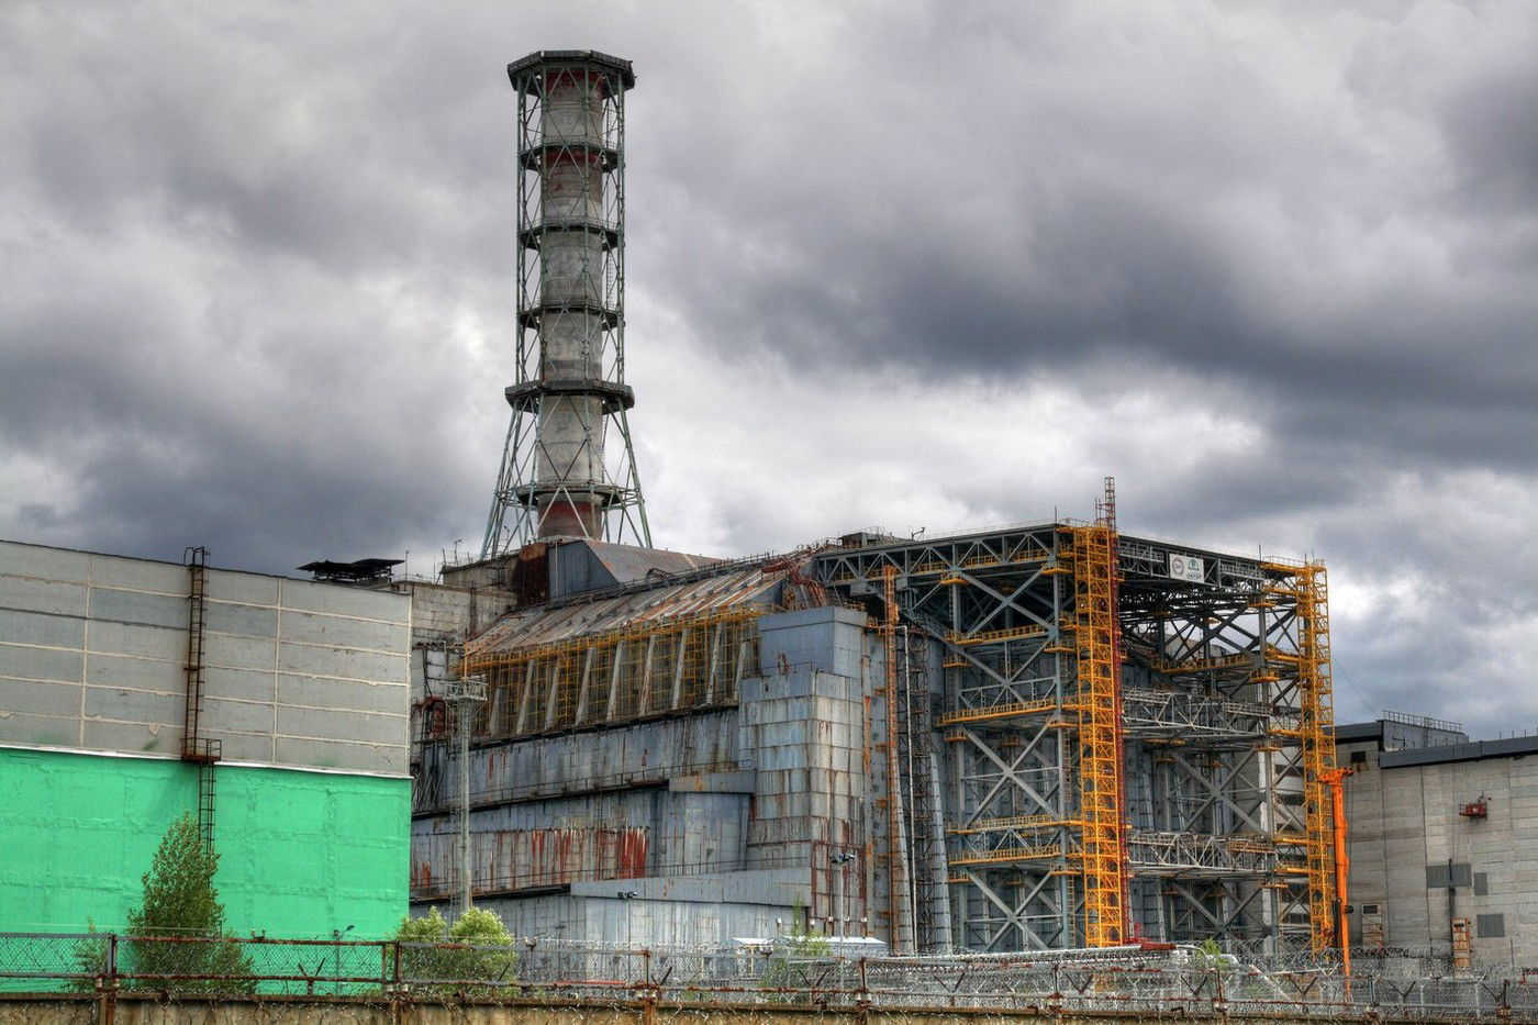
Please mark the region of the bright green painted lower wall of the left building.
<svg viewBox="0 0 1538 1025"><path fill-rule="evenodd" d="M214 845L235 934L358 939L406 914L411 780L218 766ZM197 771L158 759L0 748L0 931L120 928Z"/></svg>

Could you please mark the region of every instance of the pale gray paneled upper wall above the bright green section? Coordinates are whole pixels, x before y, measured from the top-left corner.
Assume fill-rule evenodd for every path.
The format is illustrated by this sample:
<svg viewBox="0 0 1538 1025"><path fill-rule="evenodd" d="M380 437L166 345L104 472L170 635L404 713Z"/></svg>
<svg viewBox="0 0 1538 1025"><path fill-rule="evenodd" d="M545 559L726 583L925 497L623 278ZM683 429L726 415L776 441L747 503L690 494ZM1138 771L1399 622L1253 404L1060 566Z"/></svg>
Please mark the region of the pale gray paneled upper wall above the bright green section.
<svg viewBox="0 0 1538 1025"><path fill-rule="evenodd" d="M174 757L186 566L0 542L0 743ZM223 757L406 774L411 599L208 569L200 733Z"/></svg>

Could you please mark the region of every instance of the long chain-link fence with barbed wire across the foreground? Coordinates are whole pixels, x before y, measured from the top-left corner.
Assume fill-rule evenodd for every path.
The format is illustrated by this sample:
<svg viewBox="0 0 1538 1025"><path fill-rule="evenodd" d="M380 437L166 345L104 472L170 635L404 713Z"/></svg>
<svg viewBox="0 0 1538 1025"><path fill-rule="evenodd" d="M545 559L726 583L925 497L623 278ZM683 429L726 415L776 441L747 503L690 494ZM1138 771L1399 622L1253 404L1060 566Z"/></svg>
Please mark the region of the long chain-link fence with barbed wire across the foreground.
<svg viewBox="0 0 1538 1025"><path fill-rule="evenodd" d="M1347 977L1186 950L849 959L795 939L641 950L0 933L0 990L1538 1022L1538 977L1523 973Z"/></svg>

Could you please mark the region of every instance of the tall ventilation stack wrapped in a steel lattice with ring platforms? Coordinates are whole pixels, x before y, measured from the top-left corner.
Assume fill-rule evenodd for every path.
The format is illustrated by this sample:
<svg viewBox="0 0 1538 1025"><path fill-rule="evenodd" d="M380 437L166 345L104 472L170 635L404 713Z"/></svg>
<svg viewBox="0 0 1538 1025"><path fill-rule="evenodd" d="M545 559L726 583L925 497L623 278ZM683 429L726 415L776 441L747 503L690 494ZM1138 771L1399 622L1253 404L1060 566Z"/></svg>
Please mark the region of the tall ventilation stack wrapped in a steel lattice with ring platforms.
<svg viewBox="0 0 1538 1025"><path fill-rule="evenodd" d="M532 540L651 546L624 383L624 94L631 62L540 51L518 92L518 354L481 559ZM612 465L606 436L615 436Z"/></svg>

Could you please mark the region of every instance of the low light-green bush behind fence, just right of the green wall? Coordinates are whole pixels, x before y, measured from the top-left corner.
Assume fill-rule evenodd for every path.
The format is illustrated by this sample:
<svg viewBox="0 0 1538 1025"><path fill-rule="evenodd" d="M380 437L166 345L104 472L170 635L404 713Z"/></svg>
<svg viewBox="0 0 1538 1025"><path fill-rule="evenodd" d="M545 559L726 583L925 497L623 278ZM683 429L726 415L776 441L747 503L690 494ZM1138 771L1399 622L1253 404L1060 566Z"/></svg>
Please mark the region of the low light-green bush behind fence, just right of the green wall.
<svg viewBox="0 0 1538 1025"><path fill-rule="evenodd" d="M514 980L518 953L508 928L491 911L469 908L451 928L432 908L420 919L403 919L395 939L401 943L401 977L418 991L489 993L497 987L475 983Z"/></svg>

